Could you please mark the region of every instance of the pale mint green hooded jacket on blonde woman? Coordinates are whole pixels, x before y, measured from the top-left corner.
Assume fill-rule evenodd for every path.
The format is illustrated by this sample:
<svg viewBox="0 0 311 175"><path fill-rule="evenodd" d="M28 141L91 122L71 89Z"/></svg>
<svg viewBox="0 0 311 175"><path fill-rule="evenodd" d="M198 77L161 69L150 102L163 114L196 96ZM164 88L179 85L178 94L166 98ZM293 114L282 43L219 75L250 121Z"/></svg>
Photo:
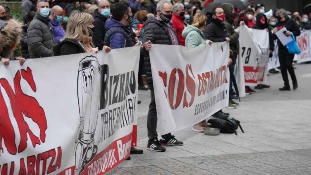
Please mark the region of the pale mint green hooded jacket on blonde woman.
<svg viewBox="0 0 311 175"><path fill-rule="evenodd" d="M205 36L197 27L188 25L183 29L182 36L186 38L185 46L188 49L197 46L206 46Z"/></svg>

